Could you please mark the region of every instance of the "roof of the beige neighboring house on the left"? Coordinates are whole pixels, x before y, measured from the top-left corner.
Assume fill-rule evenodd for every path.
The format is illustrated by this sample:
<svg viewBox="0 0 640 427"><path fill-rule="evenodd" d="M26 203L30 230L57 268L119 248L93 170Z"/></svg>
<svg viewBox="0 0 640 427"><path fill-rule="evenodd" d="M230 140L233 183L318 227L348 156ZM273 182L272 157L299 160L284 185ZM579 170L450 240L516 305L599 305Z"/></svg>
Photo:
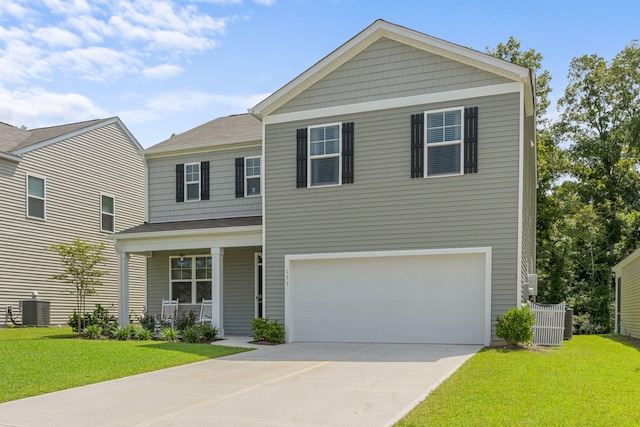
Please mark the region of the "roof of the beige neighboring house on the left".
<svg viewBox="0 0 640 427"><path fill-rule="evenodd" d="M88 120L85 122L31 130L19 129L15 126L0 122L0 158L19 162L24 153L46 147L58 141L72 138L112 123L117 123L134 143L136 148L142 150L138 141L118 117Z"/></svg>

